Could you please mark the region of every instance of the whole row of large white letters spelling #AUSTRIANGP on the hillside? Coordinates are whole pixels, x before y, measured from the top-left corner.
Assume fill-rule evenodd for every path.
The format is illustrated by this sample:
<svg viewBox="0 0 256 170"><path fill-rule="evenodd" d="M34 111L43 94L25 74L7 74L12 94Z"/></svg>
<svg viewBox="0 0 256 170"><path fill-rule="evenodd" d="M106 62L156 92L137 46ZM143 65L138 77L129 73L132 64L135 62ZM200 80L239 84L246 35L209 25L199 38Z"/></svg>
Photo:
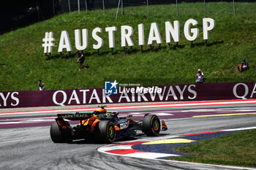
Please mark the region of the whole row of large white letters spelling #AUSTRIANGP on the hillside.
<svg viewBox="0 0 256 170"><path fill-rule="evenodd" d="M199 28L197 26L198 22L194 19L189 19L184 23L184 36L190 42L195 41L199 36ZM203 18L203 39L209 39L209 32L215 28L215 20L212 18ZM105 29L104 34L102 30ZM178 43L181 41L181 31L180 22L178 20L166 21L165 22L165 42L166 43ZM132 26L120 26L121 34L121 47L132 47L134 46L134 37L132 37L137 29L132 28ZM116 26L110 26L106 28L94 28L91 32L93 39L93 49L99 50L103 47L105 39L103 35L108 34L108 46L113 52L113 48L116 47L115 42L115 31L117 31ZM103 34L103 35L102 35ZM164 33L163 33L164 34ZM119 35L119 34L118 34ZM91 47L89 45L88 30L86 28L75 30L75 48L77 50L86 50ZM146 34L147 36L147 34ZM135 37L137 39L137 35ZM162 36L159 31L157 23L151 23L148 39L145 39L145 29L143 23L138 24L138 45L141 46L143 50L143 45L153 45L162 44ZM44 47L44 53L52 53L55 39L53 38L53 32L46 32L45 37L42 39L42 47ZM147 42L146 42L147 41ZM147 43L147 44L146 44ZM72 46L69 39L69 33L67 31L61 32L61 37L59 40L58 52L61 53L64 50L70 52L72 51ZM99 53L99 51L98 51ZM255 92L256 93L256 92Z"/></svg>

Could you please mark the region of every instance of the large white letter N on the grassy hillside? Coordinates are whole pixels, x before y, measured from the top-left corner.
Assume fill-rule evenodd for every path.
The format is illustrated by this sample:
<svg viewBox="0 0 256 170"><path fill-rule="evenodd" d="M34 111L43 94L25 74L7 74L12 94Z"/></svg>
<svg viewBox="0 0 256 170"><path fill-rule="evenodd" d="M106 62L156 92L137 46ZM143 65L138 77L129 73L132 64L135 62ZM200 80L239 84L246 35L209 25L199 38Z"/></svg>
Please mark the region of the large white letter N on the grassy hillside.
<svg viewBox="0 0 256 170"><path fill-rule="evenodd" d="M179 31L179 22L178 20L175 20L173 22L174 28L172 24L167 21L165 22L165 38L166 38L166 43L170 43L170 34L173 37L174 42L179 42L180 41L180 31Z"/></svg>

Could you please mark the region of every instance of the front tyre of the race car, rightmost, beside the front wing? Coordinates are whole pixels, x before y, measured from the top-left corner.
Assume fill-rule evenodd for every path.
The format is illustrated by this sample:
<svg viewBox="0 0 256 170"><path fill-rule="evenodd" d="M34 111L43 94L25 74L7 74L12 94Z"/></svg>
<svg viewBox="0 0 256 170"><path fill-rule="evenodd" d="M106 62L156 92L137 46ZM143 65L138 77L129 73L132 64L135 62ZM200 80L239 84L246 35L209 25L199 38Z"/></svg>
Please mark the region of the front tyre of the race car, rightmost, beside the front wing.
<svg viewBox="0 0 256 170"><path fill-rule="evenodd" d="M143 119L143 132L146 136L158 136L161 128L157 115L146 115Z"/></svg>

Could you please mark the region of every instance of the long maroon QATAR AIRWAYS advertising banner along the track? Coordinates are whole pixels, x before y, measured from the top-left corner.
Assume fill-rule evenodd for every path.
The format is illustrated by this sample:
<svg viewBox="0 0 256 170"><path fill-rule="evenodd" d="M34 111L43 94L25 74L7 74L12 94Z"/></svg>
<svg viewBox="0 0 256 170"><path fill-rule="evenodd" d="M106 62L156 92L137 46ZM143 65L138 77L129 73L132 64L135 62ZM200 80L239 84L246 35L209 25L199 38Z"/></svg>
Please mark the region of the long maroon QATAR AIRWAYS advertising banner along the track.
<svg viewBox="0 0 256 170"><path fill-rule="evenodd" d="M159 101L208 101L256 98L256 82L129 86L105 82L105 88L0 92L0 109Z"/></svg>

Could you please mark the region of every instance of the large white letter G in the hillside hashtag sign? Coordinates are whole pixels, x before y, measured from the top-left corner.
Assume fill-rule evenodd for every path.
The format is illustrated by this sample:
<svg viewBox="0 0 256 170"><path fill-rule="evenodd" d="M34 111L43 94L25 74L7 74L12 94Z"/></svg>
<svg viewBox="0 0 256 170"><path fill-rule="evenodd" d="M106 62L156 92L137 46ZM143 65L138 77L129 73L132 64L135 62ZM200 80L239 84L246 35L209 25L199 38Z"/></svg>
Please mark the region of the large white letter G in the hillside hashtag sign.
<svg viewBox="0 0 256 170"><path fill-rule="evenodd" d="M191 32L190 32L190 26L197 26L197 21L194 19L189 19L186 21L185 25L184 25L184 35L186 37L187 40L189 40L190 42L195 41L195 39L197 39L197 37L199 36L199 29L198 28L191 28ZM192 34L192 35L191 35Z"/></svg>

